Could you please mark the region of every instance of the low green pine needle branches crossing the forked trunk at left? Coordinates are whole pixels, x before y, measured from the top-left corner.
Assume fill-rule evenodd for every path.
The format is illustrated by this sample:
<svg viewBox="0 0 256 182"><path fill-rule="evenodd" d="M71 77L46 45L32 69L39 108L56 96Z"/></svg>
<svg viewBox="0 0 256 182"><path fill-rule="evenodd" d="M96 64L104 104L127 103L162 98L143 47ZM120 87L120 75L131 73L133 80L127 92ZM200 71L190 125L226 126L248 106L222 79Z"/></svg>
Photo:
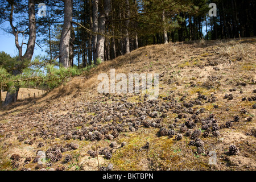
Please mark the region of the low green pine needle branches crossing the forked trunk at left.
<svg viewBox="0 0 256 182"><path fill-rule="evenodd" d="M18 75L12 73L16 66L18 65L15 59L10 55L5 53L0 54L1 64L0 64L0 82L1 86L9 89L14 89L14 86L28 87L28 86L41 86L47 89L53 89L59 86L69 78L77 75L81 75L84 69L78 69L77 67L64 68L56 67L56 63L53 61L44 60L44 57L36 57L33 61L20 61L18 68L23 68L20 70ZM7 61L10 60L10 64ZM21 64L23 63L23 64ZM86 68L89 71L89 68Z"/></svg>

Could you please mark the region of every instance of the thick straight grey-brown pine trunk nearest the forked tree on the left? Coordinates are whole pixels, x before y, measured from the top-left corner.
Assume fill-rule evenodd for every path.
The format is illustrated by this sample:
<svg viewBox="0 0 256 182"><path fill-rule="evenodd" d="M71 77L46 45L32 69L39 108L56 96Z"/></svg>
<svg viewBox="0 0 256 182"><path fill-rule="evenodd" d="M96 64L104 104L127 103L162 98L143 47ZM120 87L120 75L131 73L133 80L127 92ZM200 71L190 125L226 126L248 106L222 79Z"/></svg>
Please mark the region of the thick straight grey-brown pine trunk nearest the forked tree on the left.
<svg viewBox="0 0 256 182"><path fill-rule="evenodd" d="M68 68L69 65L69 42L71 38L71 22L72 22L72 0L64 1L64 23L60 38L60 65Z"/></svg>

